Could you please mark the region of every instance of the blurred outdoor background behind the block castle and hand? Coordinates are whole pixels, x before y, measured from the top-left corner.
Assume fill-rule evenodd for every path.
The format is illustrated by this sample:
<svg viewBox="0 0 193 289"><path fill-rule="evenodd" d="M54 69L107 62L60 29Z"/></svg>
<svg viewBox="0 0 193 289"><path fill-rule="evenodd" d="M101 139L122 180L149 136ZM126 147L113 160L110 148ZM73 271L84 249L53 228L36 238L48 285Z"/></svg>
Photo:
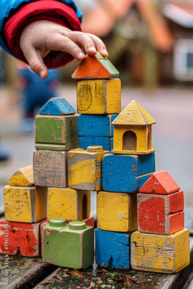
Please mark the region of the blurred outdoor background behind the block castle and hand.
<svg viewBox="0 0 193 289"><path fill-rule="evenodd" d="M133 99L156 120L152 148L156 171L166 170L193 204L193 2L179 0L75 0L84 32L101 37L120 71L122 109ZM34 116L52 96L76 108L79 62L41 81L2 52L0 77L0 207L3 186L18 168L32 164ZM93 200L95 194L93 193Z"/></svg>

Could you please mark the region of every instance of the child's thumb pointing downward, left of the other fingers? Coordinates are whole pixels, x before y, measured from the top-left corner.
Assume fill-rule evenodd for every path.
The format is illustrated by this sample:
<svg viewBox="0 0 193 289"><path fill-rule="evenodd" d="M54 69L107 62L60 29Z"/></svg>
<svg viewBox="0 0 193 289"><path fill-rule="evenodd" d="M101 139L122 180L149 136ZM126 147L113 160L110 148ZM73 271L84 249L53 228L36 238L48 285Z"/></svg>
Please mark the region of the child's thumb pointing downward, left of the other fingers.
<svg viewBox="0 0 193 289"><path fill-rule="evenodd" d="M34 47L26 47L26 49L23 48L23 54L32 68L32 71L42 79L45 79L48 76L48 69L40 56L40 51Z"/></svg>

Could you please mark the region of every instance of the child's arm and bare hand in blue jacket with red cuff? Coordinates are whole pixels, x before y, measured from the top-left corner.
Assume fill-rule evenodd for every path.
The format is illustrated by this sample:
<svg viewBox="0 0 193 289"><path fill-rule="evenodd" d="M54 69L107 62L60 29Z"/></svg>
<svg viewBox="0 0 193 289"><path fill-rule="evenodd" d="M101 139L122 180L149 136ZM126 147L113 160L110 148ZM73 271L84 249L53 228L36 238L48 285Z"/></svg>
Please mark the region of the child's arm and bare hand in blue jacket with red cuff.
<svg viewBox="0 0 193 289"><path fill-rule="evenodd" d="M3 0L0 45L42 78L47 77L47 68L65 65L73 57L84 59L79 45L90 55L97 48L107 56L98 37L82 33L81 17L72 0Z"/></svg>

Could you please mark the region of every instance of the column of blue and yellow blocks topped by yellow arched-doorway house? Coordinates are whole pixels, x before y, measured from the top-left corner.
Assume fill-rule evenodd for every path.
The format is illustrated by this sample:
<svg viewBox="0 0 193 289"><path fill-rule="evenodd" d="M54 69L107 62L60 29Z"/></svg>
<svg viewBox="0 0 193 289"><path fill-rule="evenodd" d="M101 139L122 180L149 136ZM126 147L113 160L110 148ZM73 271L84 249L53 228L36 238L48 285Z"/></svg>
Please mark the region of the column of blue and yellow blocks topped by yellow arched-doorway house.
<svg viewBox="0 0 193 289"><path fill-rule="evenodd" d="M103 158L97 194L96 263L130 269L130 236L137 230L137 192L155 171L154 119L131 101L112 122L113 150Z"/></svg>

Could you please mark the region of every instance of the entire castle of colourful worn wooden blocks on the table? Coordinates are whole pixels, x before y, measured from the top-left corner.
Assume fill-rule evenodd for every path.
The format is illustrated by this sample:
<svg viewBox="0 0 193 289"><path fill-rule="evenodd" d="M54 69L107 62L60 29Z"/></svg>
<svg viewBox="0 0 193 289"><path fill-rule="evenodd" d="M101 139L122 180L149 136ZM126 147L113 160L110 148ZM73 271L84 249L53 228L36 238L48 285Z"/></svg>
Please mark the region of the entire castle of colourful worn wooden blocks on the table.
<svg viewBox="0 0 193 289"><path fill-rule="evenodd" d="M135 100L120 112L118 75L100 53L86 56L72 75L80 116L65 98L41 108L34 164L16 171L4 188L1 253L91 266L90 198L97 191L98 266L176 273L189 264L183 192L166 171L155 173L155 120Z"/></svg>

